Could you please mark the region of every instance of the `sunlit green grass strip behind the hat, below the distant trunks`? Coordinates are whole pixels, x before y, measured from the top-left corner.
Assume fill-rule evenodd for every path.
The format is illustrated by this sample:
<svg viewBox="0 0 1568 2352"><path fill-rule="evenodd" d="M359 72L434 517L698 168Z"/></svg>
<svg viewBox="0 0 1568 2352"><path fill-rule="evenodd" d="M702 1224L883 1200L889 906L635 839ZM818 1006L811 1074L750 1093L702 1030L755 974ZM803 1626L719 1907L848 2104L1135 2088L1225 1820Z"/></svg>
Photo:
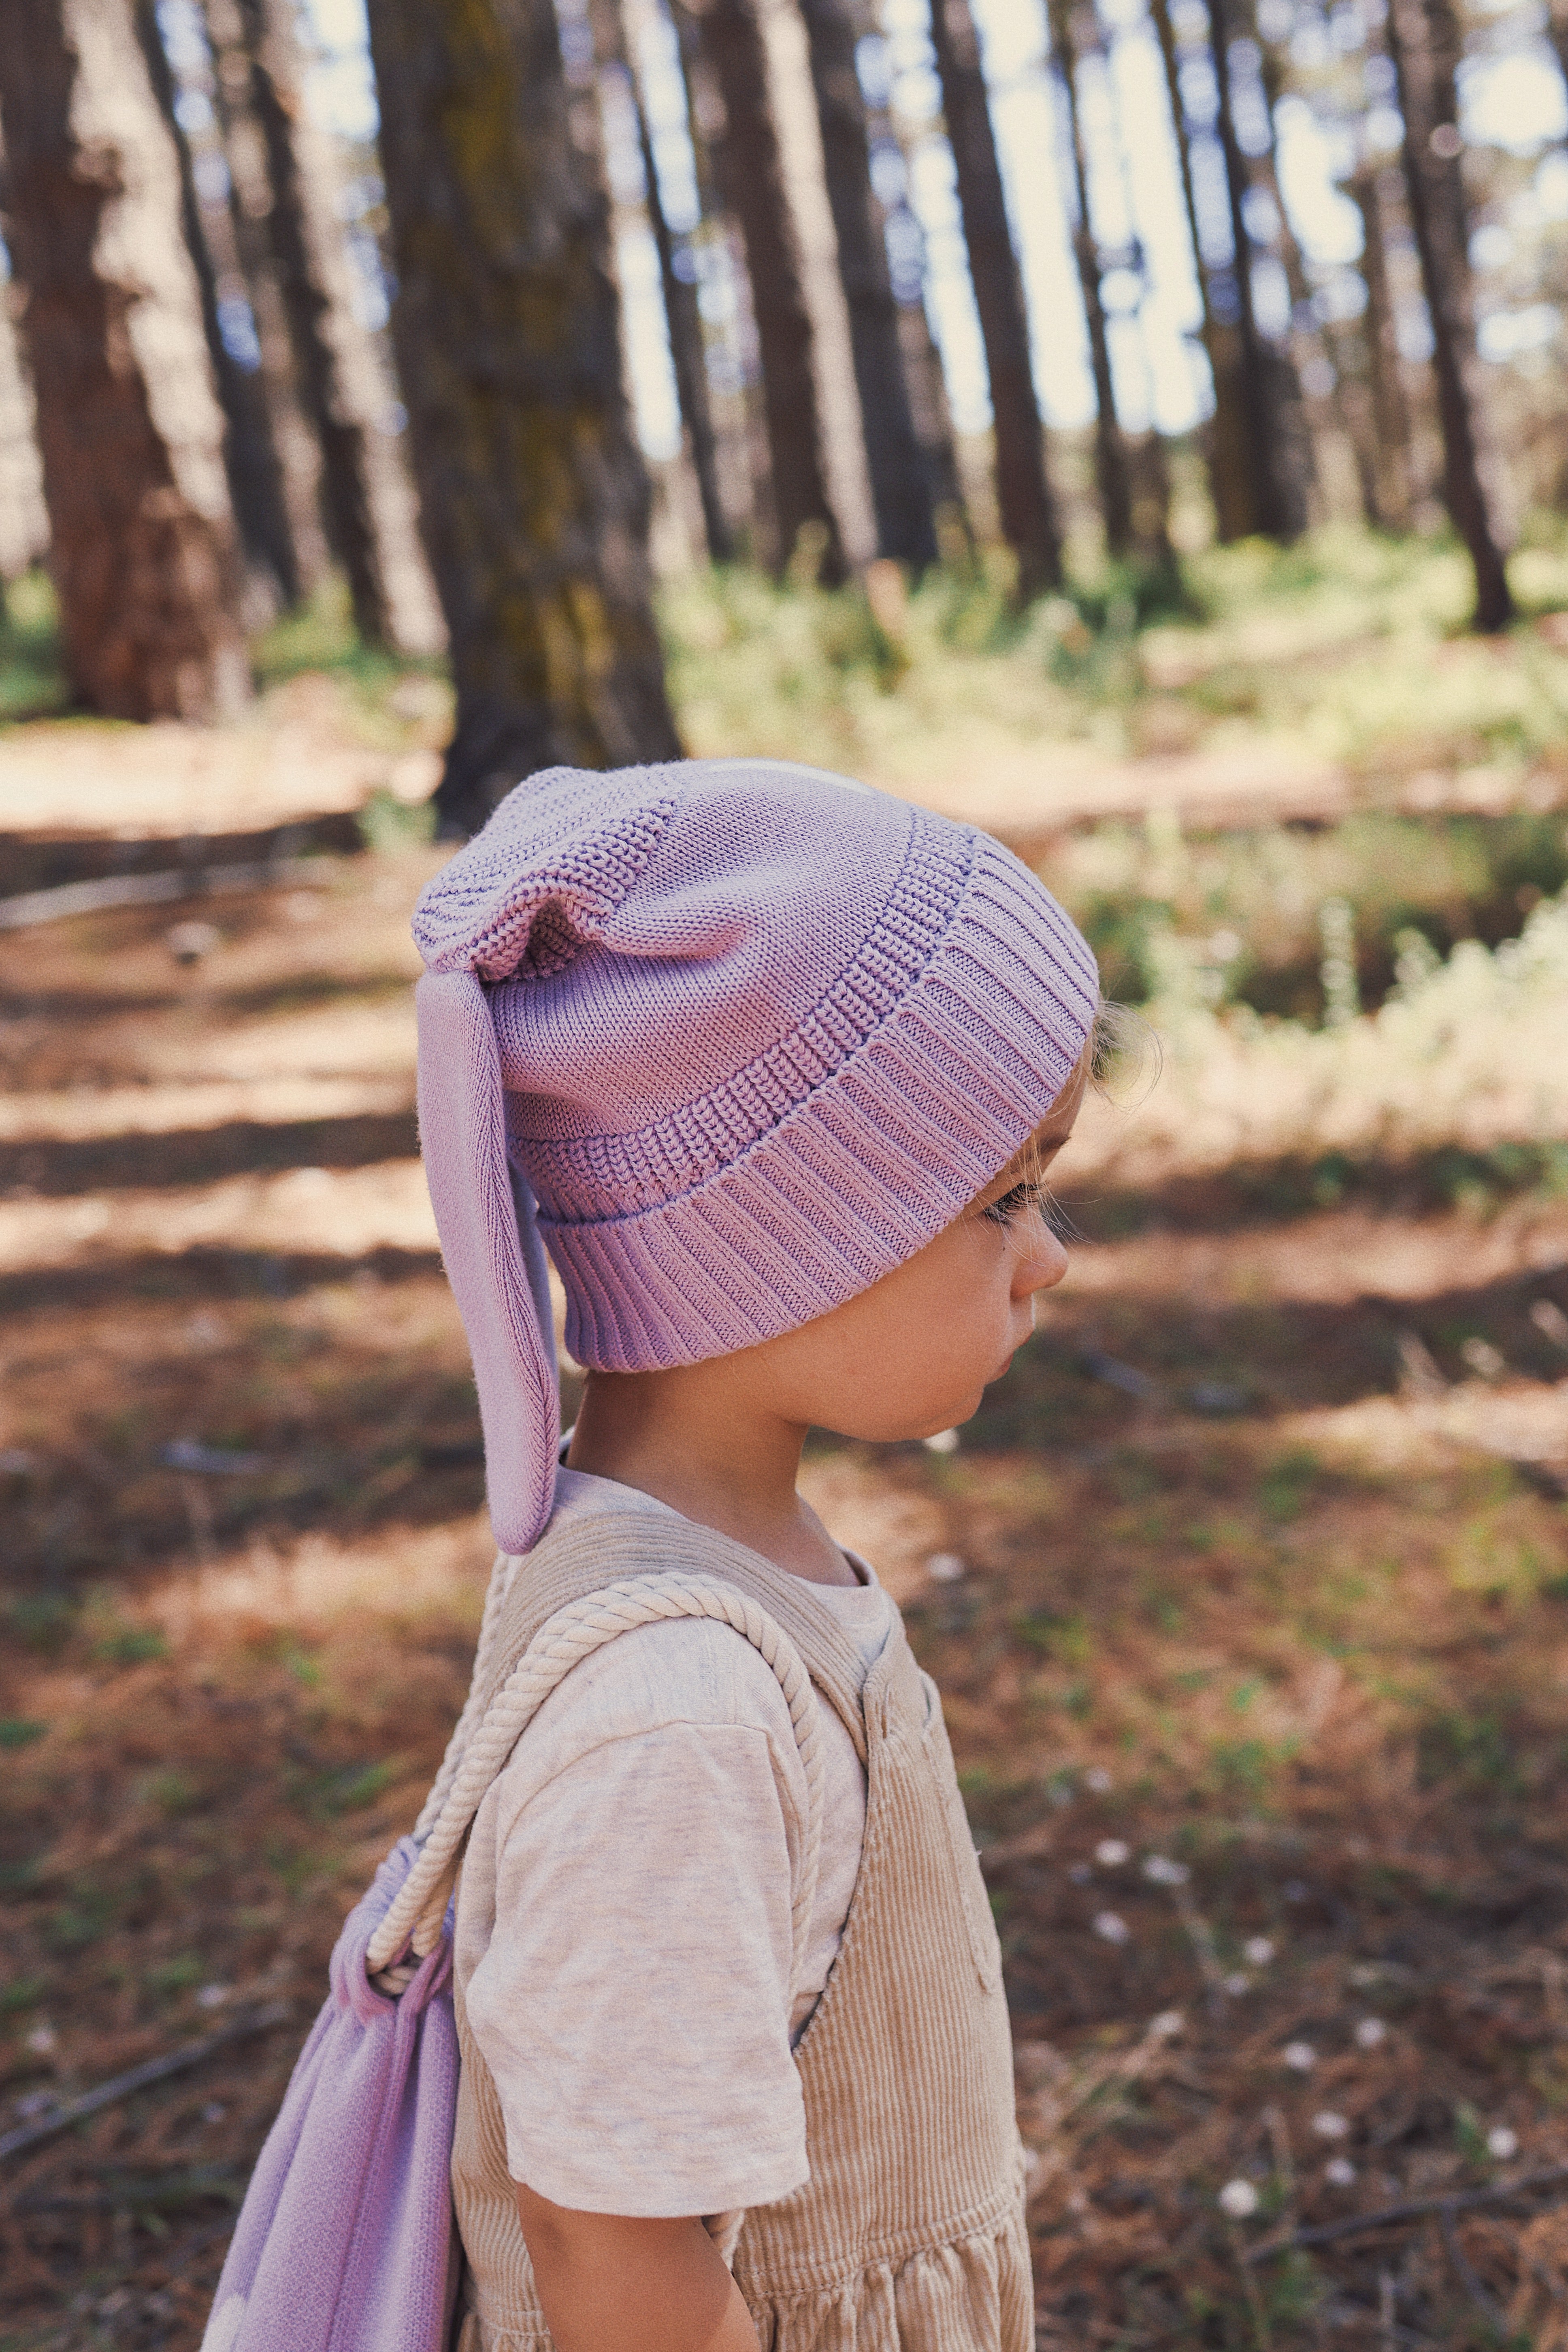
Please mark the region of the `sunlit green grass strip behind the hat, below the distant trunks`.
<svg viewBox="0 0 1568 2352"><path fill-rule="evenodd" d="M1105 755L1269 736L1368 776L1561 757L1568 532L1514 560L1509 640L1465 633L1462 550L1345 524L1295 548L1206 548L1180 583L1095 572L1018 614L1006 567L929 574L907 597L693 572L661 593L670 689L698 753L790 753L919 783L997 743Z"/></svg>

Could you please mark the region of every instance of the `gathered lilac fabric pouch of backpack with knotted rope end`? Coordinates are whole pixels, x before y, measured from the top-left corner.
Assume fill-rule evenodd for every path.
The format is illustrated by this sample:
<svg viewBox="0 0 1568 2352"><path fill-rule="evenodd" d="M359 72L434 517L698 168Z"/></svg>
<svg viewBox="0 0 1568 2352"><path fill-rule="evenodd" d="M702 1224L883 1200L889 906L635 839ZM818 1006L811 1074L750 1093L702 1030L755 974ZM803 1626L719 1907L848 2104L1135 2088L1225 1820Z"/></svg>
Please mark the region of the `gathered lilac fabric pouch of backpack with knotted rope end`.
<svg viewBox="0 0 1568 2352"><path fill-rule="evenodd" d="M364 1950L418 1860L400 1837L331 1955L331 1994L252 2173L202 2352L440 2352L461 2270L451 2218L458 2037L451 1910L397 1999Z"/></svg>

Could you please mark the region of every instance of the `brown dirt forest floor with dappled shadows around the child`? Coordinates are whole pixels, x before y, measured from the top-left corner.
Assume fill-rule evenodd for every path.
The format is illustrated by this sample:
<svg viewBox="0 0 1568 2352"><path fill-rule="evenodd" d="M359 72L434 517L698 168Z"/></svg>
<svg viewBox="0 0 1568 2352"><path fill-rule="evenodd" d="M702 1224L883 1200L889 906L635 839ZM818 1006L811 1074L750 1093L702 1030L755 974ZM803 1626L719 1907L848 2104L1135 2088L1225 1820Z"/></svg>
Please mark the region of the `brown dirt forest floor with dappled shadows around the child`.
<svg viewBox="0 0 1568 2352"><path fill-rule="evenodd" d="M190 964L181 908L0 936L0 2133L280 2011L0 2161L9 2352L200 2343L465 1689L489 1541L411 1112L435 858L212 901ZM1128 1188L1135 1117L1063 1167L1074 1272L959 1446L809 1465L945 1691L1039 2343L1549 2352L1568 1202L1178 1150Z"/></svg>

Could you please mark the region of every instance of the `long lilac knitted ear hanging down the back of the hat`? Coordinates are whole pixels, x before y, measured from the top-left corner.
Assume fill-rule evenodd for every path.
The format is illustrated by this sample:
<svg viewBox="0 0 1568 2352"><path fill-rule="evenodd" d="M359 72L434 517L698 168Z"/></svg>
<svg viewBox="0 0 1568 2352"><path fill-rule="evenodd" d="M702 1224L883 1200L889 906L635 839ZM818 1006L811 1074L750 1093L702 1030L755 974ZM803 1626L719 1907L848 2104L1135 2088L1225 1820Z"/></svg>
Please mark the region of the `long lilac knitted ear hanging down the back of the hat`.
<svg viewBox="0 0 1568 2352"><path fill-rule="evenodd" d="M527 1552L555 1508L562 1416L534 1195L510 1164L501 1054L473 971L430 971L418 1014L418 1141L447 1277L473 1350L496 1543Z"/></svg>

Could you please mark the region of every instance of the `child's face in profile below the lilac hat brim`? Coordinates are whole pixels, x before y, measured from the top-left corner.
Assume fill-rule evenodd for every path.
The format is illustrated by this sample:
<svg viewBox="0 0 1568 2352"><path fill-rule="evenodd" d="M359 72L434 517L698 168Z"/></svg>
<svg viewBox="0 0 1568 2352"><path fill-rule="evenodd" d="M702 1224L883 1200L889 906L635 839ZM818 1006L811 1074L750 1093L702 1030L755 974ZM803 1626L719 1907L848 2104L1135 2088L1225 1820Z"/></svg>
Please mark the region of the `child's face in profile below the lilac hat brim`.
<svg viewBox="0 0 1568 2352"><path fill-rule="evenodd" d="M1084 1077L1079 1063L1025 1150L917 1256L799 1331L729 1357L750 1402L872 1442L969 1421L1034 1329L1037 1296L1067 1272L1039 1178L1072 1134Z"/></svg>

